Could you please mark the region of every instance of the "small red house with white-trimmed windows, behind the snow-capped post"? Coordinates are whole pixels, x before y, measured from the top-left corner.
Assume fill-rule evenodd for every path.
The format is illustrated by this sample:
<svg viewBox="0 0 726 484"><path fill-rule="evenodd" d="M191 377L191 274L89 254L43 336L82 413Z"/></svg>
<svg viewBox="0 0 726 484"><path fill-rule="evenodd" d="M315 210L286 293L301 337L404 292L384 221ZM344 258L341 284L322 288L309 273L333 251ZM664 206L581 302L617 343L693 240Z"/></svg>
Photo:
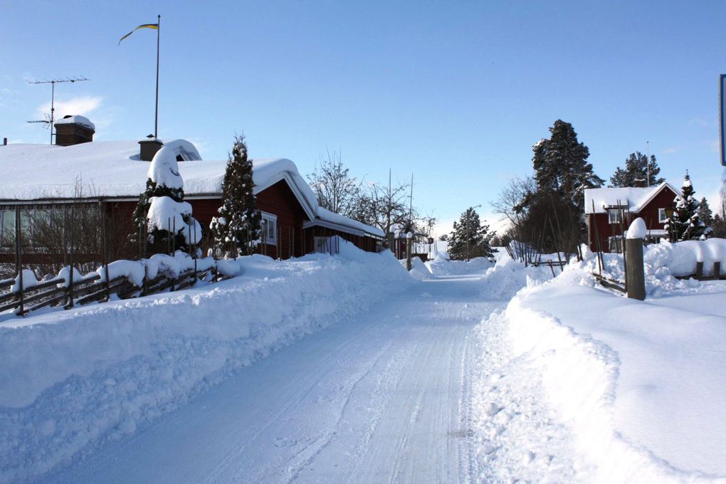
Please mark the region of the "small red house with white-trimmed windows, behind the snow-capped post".
<svg viewBox="0 0 726 484"><path fill-rule="evenodd" d="M621 252L623 232L638 217L645 221L651 242L667 238L664 223L679 195L680 192L666 182L648 188L586 189L585 221L590 249Z"/></svg>

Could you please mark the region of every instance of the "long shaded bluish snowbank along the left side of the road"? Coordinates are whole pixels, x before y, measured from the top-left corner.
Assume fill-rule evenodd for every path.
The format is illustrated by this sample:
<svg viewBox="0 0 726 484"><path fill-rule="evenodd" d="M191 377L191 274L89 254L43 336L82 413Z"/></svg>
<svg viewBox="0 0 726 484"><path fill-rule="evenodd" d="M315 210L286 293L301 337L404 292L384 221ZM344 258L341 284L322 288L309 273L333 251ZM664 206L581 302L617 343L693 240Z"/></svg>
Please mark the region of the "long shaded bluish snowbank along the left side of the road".
<svg viewBox="0 0 726 484"><path fill-rule="evenodd" d="M224 282L0 324L0 481L80 458L412 283L391 253L345 242L237 263Z"/></svg>

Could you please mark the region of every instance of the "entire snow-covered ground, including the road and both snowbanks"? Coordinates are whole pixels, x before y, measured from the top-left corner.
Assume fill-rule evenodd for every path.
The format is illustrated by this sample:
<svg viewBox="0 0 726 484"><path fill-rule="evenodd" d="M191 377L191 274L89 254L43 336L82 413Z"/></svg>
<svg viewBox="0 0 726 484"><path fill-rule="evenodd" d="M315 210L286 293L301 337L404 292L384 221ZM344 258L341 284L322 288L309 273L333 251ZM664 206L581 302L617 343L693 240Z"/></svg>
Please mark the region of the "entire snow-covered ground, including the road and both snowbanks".
<svg viewBox="0 0 726 484"><path fill-rule="evenodd" d="M345 247L6 321L0 480L726 482L726 282L657 250L643 302Z"/></svg>

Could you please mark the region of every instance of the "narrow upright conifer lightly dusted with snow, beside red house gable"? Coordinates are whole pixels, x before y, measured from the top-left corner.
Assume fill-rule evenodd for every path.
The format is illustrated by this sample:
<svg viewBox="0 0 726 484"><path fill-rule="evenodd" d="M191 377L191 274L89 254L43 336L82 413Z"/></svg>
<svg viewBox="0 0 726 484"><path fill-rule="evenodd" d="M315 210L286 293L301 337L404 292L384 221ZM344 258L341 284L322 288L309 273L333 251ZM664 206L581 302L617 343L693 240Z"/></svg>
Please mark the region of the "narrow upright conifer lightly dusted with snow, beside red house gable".
<svg viewBox="0 0 726 484"><path fill-rule="evenodd" d="M244 136L234 136L232 153L222 181L222 206L209 228L214 245L224 255L236 257L253 253L261 242L261 214L253 192L252 160L248 158Z"/></svg>

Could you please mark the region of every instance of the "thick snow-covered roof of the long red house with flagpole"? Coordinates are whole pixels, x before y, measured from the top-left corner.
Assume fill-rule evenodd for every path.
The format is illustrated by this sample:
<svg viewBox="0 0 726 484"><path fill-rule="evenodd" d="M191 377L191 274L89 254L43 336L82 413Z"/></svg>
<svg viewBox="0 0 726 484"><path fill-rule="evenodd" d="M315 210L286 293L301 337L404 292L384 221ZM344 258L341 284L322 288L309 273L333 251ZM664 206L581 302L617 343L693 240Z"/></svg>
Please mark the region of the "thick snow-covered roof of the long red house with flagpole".
<svg viewBox="0 0 726 484"><path fill-rule="evenodd" d="M158 154L165 160L171 163L176 156L184 159L178 168L187 197L221 193L227 160L202 160L194 144L184 139L163 143ZM0 202L77 197L76 181L81 183L83 197L136 198L146 189L153 163L140 160L138 141L93 141L68 147L8 144L0 147ZM383 231L376 227L319 208L315 194L292 161L257 158L252 164L255 193L285 180L311 221L383 237Z"/></svg>

